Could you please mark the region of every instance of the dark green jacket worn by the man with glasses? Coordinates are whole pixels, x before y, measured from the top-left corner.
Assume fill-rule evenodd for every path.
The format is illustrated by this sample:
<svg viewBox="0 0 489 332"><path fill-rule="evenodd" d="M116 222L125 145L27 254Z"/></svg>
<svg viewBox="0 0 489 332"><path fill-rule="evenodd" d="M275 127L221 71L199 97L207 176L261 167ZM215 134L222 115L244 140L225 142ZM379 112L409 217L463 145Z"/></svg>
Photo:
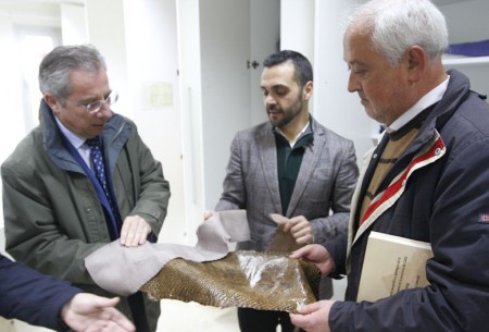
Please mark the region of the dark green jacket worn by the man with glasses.
<svg viewBox="0 0 489 332"><path fill-rule="evenodd" d="M5 249L37 271L90 293L114 296L95 284L84 262L111 241L96 189L63 146L45 101L40 114L40 124L1 167ZM158 235L170 198L161 163L142 143L136 125L118 114L106 122L102 136L122 220L139 214ZM153 331L159 307L159 303L147 306ZM125 298L120 309L131 317Z"/></svg>

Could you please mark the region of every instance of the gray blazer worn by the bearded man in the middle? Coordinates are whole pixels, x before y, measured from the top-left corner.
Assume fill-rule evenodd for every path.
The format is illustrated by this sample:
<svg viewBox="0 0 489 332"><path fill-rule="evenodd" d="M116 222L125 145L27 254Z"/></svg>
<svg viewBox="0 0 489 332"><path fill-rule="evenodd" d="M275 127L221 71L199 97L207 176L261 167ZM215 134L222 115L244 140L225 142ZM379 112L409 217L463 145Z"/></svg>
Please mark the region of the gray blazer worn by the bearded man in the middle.
<svg viewBox="0 0 489 332"><path fill-rule="evenodd" d="M348 231L350 201L359 176L353 143L327 130L311 116L314 140L306 147L287 218L304 216L314 243L324 244ZM269 122L238 132L231 143L223 194L215 210L246 209L251 241L242 250L263 251L272 243L281 214L277 149Z"/></svg>

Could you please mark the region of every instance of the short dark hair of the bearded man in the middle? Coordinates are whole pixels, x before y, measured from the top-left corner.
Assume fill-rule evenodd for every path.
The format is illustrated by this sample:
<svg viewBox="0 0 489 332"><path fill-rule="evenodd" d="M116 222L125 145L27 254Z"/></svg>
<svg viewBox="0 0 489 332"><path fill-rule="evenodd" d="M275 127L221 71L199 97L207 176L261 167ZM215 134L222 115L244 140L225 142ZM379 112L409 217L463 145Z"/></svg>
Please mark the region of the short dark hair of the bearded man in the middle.
<svg viewBox="0 0 489 332"><path fill-rule="evenodd" d="M313 81L311 62L309 62L308 58L296 51L283 50L273 53L263 61L263 66L271 67L289 60L293 63L296 81L300 87L304 87L308 82Z"/></svg>

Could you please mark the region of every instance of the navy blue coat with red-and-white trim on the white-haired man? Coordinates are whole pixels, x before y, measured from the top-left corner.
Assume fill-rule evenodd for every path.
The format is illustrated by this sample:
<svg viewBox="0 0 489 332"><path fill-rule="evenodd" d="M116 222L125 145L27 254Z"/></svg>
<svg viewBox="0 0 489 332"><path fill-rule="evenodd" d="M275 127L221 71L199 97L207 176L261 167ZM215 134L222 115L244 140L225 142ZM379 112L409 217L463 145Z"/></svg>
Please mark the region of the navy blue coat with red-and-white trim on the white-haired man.
<svg viewBox="0 0 489 332"><path fill-rule="evenodd" d="M373 209L378 213L366 216L354 236L350 231L348 246L346 236L326 245L336 272L348 271L347 302L336 303L329 315L333 332L478 332L489 327L489 106L469 90L466 76L449 74L443 98L376 194L392 201L380 198ZM365 183L374 169L375 158ZM360 207L362 189L358 197L350 230L359 222L353 206ZM430 285L356 304L371 231L431 243Z"/></svg>

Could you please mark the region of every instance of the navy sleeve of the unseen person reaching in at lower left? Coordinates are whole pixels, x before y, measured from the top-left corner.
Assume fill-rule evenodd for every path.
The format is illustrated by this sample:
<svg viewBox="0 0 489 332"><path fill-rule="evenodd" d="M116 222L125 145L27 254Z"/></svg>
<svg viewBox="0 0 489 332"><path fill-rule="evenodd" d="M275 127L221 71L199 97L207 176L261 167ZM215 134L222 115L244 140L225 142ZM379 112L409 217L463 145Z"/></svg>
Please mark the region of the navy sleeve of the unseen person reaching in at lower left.
<svg viewBox="0 0 489 332"><path fill-rule="evenodd" d="M57 331L64 304L80 290L0 255L0 315Z"/></svg>

